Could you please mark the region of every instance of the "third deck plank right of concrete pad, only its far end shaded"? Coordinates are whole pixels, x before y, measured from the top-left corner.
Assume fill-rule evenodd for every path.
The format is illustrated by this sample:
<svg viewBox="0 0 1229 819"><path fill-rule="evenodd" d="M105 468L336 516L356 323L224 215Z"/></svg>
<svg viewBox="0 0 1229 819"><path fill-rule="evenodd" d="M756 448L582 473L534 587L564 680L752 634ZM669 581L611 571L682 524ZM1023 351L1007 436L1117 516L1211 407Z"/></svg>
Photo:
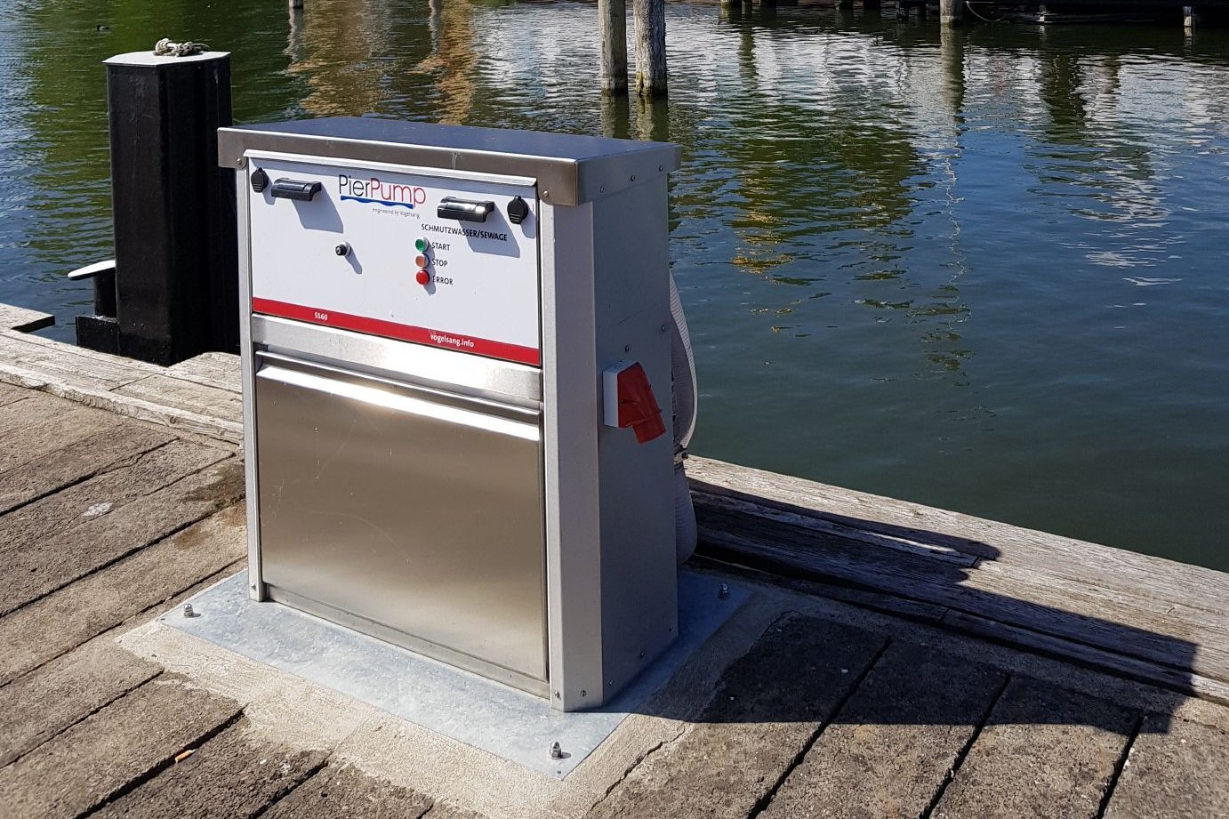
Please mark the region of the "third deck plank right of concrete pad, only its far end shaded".
<svg viewBox="0 0 1229 819"><path fill-rule="evenodd" d="M1024 678L991 712L934 819L1096 819L1137 714Z"/></svg>

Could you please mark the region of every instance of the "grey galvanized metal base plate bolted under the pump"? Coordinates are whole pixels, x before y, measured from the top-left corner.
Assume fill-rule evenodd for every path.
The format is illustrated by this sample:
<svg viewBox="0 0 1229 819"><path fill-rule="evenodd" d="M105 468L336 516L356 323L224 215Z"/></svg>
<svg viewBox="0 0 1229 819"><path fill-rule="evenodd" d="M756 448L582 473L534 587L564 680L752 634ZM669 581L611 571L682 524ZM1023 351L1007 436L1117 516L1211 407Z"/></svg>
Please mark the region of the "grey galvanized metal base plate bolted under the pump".
<svg viewBox="0 0 1229 819"><path fill-rule="evenodd" d="M629 713L751 595L737 585L678 574L678 638L611 703L563 713L524 691L445 665L278 603L247 596L247 572L205 589L188 603L193 616L167 612L162 622L243 657L296 674L554 778L570 774ZM552 743L563 759L551 759Z"/></svg>

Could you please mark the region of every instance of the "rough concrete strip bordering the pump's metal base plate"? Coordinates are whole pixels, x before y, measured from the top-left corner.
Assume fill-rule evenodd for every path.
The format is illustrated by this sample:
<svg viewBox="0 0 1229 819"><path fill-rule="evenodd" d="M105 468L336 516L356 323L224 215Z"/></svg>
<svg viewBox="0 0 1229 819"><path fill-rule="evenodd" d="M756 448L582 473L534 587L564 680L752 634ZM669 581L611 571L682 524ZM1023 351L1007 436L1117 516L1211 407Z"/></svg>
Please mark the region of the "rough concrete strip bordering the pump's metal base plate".
<svg viewBox="0 0 1229 819"><path fill-rule="evenodd" d="M253 730L270 742L331 749L331 765L353 765L429 794L435 799L434 817L476 812L499 819L578 819L628 770L683 730L681 721L702 711L721 671L779 616L780 601L772 595L756 595L744 604L645 703L645 713L624 719L564 780L457 743L161 621L134 628L119 643L197 685L236 698Z"/></svg>

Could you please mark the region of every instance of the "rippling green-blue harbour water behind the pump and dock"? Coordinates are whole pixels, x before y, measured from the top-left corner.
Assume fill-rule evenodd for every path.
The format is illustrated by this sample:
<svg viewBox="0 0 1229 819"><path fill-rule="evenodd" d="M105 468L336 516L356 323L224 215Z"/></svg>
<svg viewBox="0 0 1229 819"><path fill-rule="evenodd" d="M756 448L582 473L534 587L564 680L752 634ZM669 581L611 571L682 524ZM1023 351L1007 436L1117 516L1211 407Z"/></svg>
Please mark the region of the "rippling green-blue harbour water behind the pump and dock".
<svg viewBox="0 0 1229 819"><path fill-rule="evenodd" d="M670 139L697 453L1229 569L1229 33L676 2L640 106L592 5L307 1L0 0L0 301L71 339L100 60L163 36L234 52L243 122Z"/></svg>

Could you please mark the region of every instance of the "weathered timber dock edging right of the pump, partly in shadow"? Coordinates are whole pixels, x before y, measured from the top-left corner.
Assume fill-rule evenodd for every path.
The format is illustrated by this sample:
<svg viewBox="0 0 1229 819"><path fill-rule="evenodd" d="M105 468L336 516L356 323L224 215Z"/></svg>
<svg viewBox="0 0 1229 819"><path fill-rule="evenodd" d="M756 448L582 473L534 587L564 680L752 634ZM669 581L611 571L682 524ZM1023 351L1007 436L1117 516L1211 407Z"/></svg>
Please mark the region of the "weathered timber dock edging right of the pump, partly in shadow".
<svg viewBox="0 0 1229 819"><path fill-rule="evenodd" d="M986 625L1003 623L999 638L1045 642L1182 691L1219 696L1229 684L1229 612L1218 603L1229 599L1229 574L718 461L688 464L702 555L940 605L952 627L991 636ZM1046 552L1051 542L1058 557Z"/></svg>

